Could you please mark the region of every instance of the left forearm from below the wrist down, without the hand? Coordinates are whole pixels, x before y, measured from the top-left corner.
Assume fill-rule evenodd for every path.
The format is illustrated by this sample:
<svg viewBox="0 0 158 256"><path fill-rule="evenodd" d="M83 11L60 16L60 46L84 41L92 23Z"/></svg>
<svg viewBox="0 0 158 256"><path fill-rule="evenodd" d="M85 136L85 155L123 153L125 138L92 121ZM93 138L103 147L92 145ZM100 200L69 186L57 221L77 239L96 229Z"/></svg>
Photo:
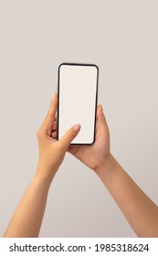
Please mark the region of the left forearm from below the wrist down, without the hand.
<svg viewBox="0 0 158 256"><path fill-rule="evenodd" d="M27 187L4 237L37 237L42 224L50 182L36 173Z"/></svg>

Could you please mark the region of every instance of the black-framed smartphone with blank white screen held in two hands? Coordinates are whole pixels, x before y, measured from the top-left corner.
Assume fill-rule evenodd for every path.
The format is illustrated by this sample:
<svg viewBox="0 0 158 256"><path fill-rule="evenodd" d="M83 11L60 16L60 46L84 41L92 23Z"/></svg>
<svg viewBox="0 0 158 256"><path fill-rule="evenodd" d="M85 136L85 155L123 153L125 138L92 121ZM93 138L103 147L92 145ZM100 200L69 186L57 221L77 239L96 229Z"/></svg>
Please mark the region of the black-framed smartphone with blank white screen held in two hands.
<svg viewBox="0 0 158 256"><path fill-rule="evenodd" d="M62 63L58 67L58 140L76 123L79 134L70 145L95 141L99 68L94 64Z"/></svg>

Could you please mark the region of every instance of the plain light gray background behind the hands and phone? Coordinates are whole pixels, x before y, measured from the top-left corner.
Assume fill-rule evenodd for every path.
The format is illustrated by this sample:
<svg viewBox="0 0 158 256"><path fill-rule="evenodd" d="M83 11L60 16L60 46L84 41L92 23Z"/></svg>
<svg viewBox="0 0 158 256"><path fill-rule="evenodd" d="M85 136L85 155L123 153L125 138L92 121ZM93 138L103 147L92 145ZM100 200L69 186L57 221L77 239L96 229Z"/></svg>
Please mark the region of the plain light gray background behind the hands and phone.
<svg viewBox="0 0 158 256"><path fill-rule="evenodd" d="M0 232L37 167L37 129L63 61L100 68L111 152L158 201L158 2L0 2ZM134 237L99 178L67 155L41 237Z"/></svg>

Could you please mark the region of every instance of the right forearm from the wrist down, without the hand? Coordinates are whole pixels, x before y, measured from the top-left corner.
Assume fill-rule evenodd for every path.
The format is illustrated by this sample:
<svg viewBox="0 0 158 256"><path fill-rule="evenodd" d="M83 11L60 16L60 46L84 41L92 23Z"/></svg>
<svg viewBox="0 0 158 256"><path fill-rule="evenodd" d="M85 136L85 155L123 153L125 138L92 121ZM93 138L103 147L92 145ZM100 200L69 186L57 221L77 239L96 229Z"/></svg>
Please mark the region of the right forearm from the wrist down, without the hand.
<svg viewBox="0 0 158 256"><path fill-rule="evenodd" d="M97 171L139 237L158 237L158 208L111 155Z"/></svg>

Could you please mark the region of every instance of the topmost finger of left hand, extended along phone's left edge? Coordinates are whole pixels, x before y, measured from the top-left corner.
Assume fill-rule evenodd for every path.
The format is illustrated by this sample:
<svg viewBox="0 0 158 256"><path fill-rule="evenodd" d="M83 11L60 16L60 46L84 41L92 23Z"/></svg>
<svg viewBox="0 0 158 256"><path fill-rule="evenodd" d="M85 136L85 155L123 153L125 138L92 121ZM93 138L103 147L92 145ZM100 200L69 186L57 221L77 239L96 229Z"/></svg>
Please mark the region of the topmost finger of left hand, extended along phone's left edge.
<svg viewBox="0 0 158 256"><path fill-rule="evenodd" d="M56 111L58 105L58 94L55 93L53 95L49 110L47 112L47 116L42 124L42 130L44 133L50 133L51 126L53 122L56 120Z"/></svg>

